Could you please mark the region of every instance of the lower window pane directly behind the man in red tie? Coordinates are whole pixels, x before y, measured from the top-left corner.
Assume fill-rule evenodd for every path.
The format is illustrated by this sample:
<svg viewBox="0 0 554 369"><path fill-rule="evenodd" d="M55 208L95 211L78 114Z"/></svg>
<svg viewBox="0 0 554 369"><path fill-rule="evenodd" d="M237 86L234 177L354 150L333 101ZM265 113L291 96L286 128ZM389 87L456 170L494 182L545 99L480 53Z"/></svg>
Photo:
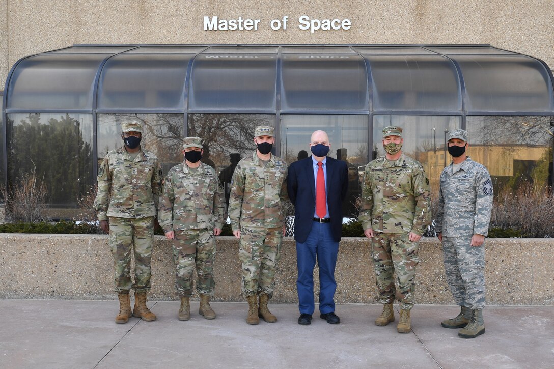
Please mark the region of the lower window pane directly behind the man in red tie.
<svg viewBox="0 0 554 369"><path fill-rule="evenodd" d="M342 203L344 217L357 217L360 178L368 159L367 115L281 115L281 157L291 162L311 155L310 137L314 131L329 135L329 156L348 166L348 194Z"/></svg>

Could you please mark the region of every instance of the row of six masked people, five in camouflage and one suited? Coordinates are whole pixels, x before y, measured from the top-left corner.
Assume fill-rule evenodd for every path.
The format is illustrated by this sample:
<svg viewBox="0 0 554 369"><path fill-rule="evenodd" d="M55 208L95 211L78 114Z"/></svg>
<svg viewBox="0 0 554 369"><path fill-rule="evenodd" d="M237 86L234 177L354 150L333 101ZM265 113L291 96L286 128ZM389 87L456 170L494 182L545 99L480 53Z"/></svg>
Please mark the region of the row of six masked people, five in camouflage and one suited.
<svg viewBox="0 0 554 369"><path fill-rule="evenodd" d="M274 127L256 127L256 150L233 163L229 189L224 193L214 168L201 162L200 137L183 140L184 161L164 178L156 156L140 145L142 125L127 121L121 127L124 146L102 161L94 204L100 227L110 234L115 290L120 301L117 323L125 323L131 316L145 321L156 319L146 306L146 293L150 290L153 229L158 222L173 244L176 288L181 299L178 319L190 319L195 268L201 299L198 313L214 319L216 312L209 299L215 287L215 236L222 232L227 215L239 243L242 294L248 301L246 321L259 324L261 318L276 322L268 302L275 288L288 200L295 206L298 323L311 324L315 311L316 262L320 317L330 324L340 323L335 314L335 266L348 168L346 162L327 156L331 142L326 132L313 132L311 156L288 167L271 153ZM397 331L407 333L411 331L410 311L415 298L418 241L431 221L429 180L420 163L402 152L401 127L386 127L382 143L386 155L368 163L362 178L360 222L371 239L379 301L383 304L375 324L385 326L394 321L396 299L401 308ZM460 314L444 320L442 326L461 328L460 337L473 338L485 331L484 239L493 186L486 168L467 156L467 147L464 130L449 132L452 163L440 176L435 230L443 244L448 285L461 307ZM135 290L133 310L131 289Z"/></svg>

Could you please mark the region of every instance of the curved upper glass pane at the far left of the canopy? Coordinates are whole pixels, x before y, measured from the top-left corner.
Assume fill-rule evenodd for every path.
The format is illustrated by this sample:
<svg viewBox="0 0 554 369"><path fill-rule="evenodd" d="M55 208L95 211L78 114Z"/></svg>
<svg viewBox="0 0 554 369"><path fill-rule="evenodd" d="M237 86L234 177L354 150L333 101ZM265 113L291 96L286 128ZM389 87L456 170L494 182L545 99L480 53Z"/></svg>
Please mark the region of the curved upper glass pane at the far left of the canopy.
<svg viewBox="0 0 554 369"><path fill-rule="evenodd" d="M94 78L105 57L42 54L24 59L9 81L6 109L92 110Z"/></svg>

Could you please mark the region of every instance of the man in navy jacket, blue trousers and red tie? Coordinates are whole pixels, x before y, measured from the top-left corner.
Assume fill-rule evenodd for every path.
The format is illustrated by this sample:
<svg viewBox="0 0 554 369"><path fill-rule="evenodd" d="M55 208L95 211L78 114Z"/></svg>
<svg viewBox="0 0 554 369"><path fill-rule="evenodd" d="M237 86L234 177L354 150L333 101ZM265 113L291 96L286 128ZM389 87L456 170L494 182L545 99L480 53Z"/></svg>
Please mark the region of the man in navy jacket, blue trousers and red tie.
<svg viewBox="0 0 554 369"><path fill-rule="evenodd" d="M319 265L319 311L321 319L340 323L333 297L338 242L342 232L342 200L348 189L348 168L343 161L327 157L331 148L324 131L311 135L312 156L289 168L287 187L295 206L294 239L298 266L298 324L311 323L314 312L314 267Z"/></svg>

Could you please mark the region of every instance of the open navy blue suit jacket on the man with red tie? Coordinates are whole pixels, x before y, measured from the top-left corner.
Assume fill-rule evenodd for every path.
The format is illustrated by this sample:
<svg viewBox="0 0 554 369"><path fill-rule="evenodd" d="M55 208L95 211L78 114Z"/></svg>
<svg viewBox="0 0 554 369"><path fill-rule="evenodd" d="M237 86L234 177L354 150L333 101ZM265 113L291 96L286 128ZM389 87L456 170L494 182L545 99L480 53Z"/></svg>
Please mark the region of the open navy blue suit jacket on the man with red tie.
<svg viewBox="0 0 554 369"><path fill-rule="evenodd" d="M327 205L331 218L333 240L339 242L342 235L342 201L348 190L346 163L327 156ZM294 204L294 239L304 243L314 223L315 178L311 157L296 161L289 167L286 181L290 201Z"/></svg>

